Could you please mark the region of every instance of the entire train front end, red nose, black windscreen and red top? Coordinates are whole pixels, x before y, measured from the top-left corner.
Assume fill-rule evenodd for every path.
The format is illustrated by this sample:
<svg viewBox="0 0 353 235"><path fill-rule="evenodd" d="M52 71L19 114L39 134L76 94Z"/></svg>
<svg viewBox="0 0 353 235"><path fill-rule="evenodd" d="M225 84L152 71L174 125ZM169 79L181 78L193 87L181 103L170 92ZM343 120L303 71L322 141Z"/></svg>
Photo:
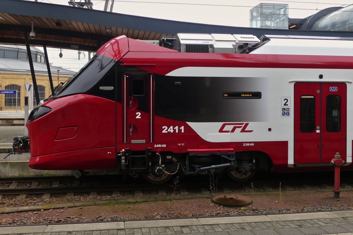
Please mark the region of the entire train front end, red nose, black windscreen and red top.
<svg viewBox="0 0 353 235"><path fill-rule="evenodd" d="M110 40L53 98L31 112L26 124L31 168L115 168L115 64L128 51L127 37Z"/></svg>

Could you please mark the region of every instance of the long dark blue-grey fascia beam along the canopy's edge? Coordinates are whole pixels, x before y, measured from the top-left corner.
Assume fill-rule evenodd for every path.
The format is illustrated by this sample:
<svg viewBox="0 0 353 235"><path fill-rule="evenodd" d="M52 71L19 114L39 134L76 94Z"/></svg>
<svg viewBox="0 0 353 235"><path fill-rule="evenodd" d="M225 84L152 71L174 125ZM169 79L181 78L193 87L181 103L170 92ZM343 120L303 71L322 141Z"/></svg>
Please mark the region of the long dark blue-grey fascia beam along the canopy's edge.
<svg viewBox="0 0 353 235"><path fill-rule="evenodd" d="M140 30L176 35L177 33L223 33L261 35L301 35L325 37L353 37L352 31L312 31L312 30L284 30L258 29L249 27L232 27L223 25L207 25L188 23L174 20L163 20L140 16L131 16L104 11L92 11L79 7L47 4L33 1L1 0L1 13L17 14L31 17L63 19L70 21L117 27L120 29ZM59 30L64 32L64 30ZM104 41L104 40L102 40Z"/></svg>

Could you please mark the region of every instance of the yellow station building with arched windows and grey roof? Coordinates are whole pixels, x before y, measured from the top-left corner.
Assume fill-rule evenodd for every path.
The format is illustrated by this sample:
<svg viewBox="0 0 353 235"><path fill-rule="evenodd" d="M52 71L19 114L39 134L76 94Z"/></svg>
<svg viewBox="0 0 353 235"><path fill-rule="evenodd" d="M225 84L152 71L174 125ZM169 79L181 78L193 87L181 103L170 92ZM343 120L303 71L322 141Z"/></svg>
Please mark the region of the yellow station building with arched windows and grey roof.
<svg viewBox="0 0 353 235"><path fill-rule="evenodd" d="M40 100L43 100L52 94L46 60L44 53L41 50L35 47L30 48L36 74L39 98ZM60 87L61 82L65 82L76 73L55 66L50 66L50 71L53 77L54 90L58 88L58 84ZM26 83L33 84L26 47L20 45L0 44L0 90L17 91L18 110L24 110L24 97L26 96L24 85ZM0 94L0 111L15 111L16 97L16 94ZM35 97L35 95L33 94L32 97ZM33 102L34 106L36 106L35 98Z"/></svg>

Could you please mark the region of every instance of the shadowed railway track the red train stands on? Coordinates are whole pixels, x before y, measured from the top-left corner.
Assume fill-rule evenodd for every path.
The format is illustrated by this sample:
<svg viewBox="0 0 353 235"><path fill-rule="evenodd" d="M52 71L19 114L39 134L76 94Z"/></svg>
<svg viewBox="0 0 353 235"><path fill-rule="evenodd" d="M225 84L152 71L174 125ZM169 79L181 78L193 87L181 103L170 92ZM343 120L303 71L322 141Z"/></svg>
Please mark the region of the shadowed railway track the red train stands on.
<svg viewBox="0 0 353 235"><path fill-rule="evenodd" d="M177 191L180 191L181 194L183 192L185 194L197 192L202 193L205 189L210 188L209 180L197 181L193 183L187 183L188 180L184 181L181 180L177 187ZM254 179L243 182L220 180L217 183L217 188L219 191L228 190L231 192L242 192L249 191L252 183L255 187L255 192L277 191L279 190L280 182L282 185L282 190L305 190L314 188L329 189L334 183L333 177L323 178L318 175L316 178L308 178L307 176L301 178L282 177L282 179ZM46 183L46 186L41 186L43 185L41 183ZM352 187L353 177L341 178L341 184L342 187ZM160 185L141 184L140 182L136 183L134 181L122 182L118 175L85 175L80 179L76 179L74 176L68 175L43 177L4 177L0 178L0 195L68 193L68 196L73 196L74 193L93 193L93 195L96 195L94 193L115 192L115 194L117 194L116 192L125 191L131 195L135 194L136 196L142 196L142 191L168 191L173 190L173 186L175 186L173 185L173 181Z"/></svg>

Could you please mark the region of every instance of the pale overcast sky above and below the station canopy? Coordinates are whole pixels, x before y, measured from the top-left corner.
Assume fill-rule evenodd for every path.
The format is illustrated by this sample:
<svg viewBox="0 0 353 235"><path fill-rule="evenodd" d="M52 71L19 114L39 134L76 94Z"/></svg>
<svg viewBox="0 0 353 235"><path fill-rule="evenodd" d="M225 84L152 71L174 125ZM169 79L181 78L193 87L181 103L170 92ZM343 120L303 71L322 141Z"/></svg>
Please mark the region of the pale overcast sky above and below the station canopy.
<svg viewBox="0 0 353 235"><path fill-rule="evenodd" d="M68 0L38 1L68 5ZM94 4L94 10L102 11L104 9L104 0L91 1ZM289 18L305 18L328 7L351 5L353 4L353 0L114 0L113 12L203 24L249 27L249 11L260 3L288 4ZM108 10L110 9L110 4L111 0ZM48 48L49 62L53 63L54 66L60 66L77 72L88 61L87 52L84 52L86 58L81 53L81 60L78 60L76 50L62 50L62 58L59 57L59 53L60 49Z"/></svg>

